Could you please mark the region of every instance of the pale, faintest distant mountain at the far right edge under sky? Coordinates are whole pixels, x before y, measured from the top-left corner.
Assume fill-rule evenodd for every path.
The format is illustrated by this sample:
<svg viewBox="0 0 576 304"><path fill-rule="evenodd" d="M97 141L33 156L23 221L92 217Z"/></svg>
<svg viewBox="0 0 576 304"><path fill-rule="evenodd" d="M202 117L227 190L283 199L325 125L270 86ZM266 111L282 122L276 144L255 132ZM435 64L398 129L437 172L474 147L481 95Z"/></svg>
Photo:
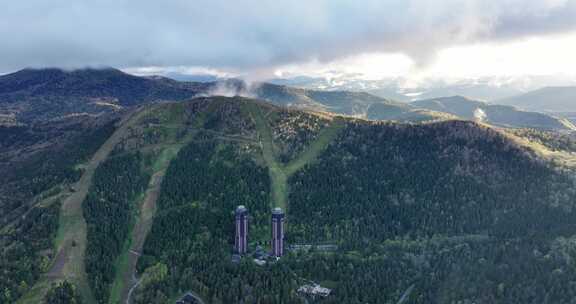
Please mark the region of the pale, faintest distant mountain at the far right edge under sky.
<svg viewBox="0 0 576 304"><path fill-rule="evenodd" d="M498 103L532 111L576 112L576 87L546 87L498 100Z"/></svg>

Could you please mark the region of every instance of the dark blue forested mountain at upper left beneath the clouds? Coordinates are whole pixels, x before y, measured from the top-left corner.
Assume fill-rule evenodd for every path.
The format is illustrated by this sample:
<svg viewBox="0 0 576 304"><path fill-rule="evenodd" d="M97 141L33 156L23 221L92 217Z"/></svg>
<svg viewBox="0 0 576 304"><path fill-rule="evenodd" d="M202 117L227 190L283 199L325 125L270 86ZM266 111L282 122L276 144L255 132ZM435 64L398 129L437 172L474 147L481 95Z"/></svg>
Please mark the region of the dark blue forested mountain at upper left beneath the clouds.
<svg viewBox="0 0 576 304"><path fill-rule="evenodd" d="M137 77L112 68L25 69L0 76L0 114L21 123L99 115L142 103L184 100L204 89L200 83Z"/></svg>

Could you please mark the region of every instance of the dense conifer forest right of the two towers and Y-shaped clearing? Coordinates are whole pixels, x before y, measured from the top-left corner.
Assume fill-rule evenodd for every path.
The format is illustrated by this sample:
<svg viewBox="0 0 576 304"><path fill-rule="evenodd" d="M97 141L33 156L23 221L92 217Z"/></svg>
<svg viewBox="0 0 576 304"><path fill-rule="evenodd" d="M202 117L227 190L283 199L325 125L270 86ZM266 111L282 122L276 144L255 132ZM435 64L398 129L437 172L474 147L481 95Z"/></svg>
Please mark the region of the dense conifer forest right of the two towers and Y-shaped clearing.
<svg viewBox="0 0 576 304"><path fill-rule="evenodd" d="M572 301L574 179L496 131L349 124L290 186L288 241L347 252L298 260L327 302Z"/></svg>

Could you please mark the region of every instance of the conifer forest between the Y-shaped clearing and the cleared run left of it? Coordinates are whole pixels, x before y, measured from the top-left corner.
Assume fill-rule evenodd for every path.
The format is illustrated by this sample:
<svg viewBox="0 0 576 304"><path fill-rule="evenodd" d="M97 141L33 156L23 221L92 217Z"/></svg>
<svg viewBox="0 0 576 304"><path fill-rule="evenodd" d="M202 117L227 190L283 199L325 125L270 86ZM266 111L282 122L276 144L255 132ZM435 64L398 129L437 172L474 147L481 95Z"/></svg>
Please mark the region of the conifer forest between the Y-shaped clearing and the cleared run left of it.
<svg viewBox="0 0 576 304"><path fill-rule="evenodd" d="M144 284L137 301L161 303L159 299L192 289L214 303L236 303L245 297L273 303L275 297L289 293L290 288L283 290L280 280L273 280L288 270L278 265L268 271L249 261L233 265L230 260L231 219L237 205L250 210L251 246L266 246L270 210L266 170L234 144L201 138L184 147L168 168L140 259L141 270L165 267L166 273Z"/></svg>

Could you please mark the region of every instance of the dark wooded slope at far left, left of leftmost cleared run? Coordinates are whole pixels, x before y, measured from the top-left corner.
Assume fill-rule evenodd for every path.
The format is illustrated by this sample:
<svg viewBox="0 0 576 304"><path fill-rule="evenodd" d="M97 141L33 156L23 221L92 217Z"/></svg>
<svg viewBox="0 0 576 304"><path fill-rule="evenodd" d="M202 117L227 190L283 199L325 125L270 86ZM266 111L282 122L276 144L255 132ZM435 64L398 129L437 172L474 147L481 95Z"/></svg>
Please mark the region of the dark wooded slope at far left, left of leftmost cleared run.
<svg viewBox="0 0 576 304"><path fill-rule="evenodd" d="M81 164L114 132L119 118L0 126L0 224L19 216L34 196L77 179Z"/></svg>

